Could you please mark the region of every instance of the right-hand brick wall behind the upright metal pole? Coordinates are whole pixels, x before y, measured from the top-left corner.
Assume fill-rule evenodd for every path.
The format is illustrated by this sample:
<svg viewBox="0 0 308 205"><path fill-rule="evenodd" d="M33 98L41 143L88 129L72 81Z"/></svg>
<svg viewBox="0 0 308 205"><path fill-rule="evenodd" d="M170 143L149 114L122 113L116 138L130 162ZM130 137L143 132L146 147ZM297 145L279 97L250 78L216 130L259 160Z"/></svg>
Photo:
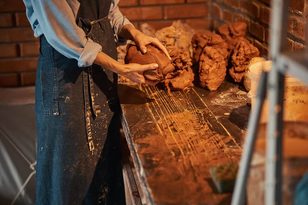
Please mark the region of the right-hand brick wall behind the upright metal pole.
<svg viewBox="0 0 308 205"><path fill-rule="evenodd" d="M271 0L212 0L210 16L212 27L224 23L243 21L248 25L247 38L267 57ZM305 48L305 22L308 0L290 0L287 49L299 51Z"/></svg>

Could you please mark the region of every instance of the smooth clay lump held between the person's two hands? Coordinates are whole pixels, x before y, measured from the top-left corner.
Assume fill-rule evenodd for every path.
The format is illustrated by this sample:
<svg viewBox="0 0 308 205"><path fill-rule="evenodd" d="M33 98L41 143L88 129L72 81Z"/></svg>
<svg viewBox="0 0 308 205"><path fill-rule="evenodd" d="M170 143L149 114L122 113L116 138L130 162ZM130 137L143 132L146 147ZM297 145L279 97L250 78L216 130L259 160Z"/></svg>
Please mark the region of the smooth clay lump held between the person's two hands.
<svg viewBox="0 0 308 205"><path fill-rule="evenodd" d="M146 46L147 52L142 54L139 48L135 45L129 44L127 46L127 53L125 56L125 64L152 64L157 63L158 68L156 70L145 71L144 77L152 81L162 81L165 79L169 72L172 72L175 67L171 64L165 54L153 46Z"/></svg>

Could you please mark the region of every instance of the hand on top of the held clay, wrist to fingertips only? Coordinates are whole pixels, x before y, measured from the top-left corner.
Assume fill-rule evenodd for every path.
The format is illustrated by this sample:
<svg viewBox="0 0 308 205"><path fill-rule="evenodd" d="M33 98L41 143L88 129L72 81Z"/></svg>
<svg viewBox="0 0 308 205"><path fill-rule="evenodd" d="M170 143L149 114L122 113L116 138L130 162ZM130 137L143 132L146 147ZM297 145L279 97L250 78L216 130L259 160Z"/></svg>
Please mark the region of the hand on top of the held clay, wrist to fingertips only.
<svg viewBox="0 0 308 205"><path fill-rule="evenodd" d="M163 51L163 53L171 60L171 57L167 51L167 49L160 43L157 38L153 38L151 36L145 35L142 32L138 32L133 37L133 42L139 47L142 53L146 53L146 46L151 44L156 46L158 49Z"/></svg>

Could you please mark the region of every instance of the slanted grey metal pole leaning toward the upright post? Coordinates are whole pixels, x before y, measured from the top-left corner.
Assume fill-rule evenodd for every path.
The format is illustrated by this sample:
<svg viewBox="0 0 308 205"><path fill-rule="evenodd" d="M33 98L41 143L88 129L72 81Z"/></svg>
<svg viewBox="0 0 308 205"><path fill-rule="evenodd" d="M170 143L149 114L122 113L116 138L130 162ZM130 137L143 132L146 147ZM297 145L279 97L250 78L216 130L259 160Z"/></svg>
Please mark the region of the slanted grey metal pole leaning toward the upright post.
<svg viewBox="0 0 308 205"><path fill-rule="evenodd" d="M249 168L251 165L252 155L254 151L254 145L258 134L259 120L261 115L261 110L263 107L263 102L266 95L266 82L267 73L262 72L261 79L259 83L256 106L252 111L252 115L249 118L248 130L245 139L243 155L240 162L240 168L237 174L237 179L235 183L235 190L232 198L232 205L241 205L244 201L247 176L249 173Z"/></svg>

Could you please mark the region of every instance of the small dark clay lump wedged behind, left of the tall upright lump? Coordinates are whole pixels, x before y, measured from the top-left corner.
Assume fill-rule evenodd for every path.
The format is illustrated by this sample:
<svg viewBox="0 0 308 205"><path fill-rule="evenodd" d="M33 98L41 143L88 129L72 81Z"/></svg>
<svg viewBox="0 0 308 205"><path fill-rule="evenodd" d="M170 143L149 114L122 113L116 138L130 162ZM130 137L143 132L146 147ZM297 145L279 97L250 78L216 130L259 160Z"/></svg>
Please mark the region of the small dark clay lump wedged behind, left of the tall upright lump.
<svg viewBox="0 0 308 205"><path fill-rule="evenodd" d="M205 33L198 32L191 38L191 44L192 44L192 61L195 63L199 63L201 52L204 48L204 46L208 42L209 36Z"/></svg>

